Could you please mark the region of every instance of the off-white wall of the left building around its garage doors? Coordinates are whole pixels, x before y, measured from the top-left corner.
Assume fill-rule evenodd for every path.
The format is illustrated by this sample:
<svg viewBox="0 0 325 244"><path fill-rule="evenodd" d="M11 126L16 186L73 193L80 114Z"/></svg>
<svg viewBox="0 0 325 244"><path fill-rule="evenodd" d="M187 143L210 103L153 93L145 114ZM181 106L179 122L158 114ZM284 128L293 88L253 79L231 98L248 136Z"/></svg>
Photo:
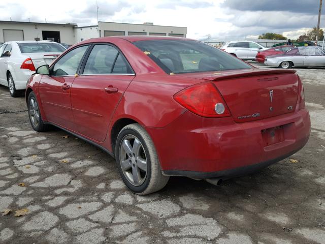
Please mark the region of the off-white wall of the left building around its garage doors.
<svg viewBox="0 0 325 244"><path fill-rule="evenodd" d="M36 37L42 39L42 31L60 32L61 43L74 44L75 31L74 25L54 25L54 24L38 24L38 23L10 23L0 22L0 42L4 42L3 29L22 29L25 41L34 41Z"/></svg>

